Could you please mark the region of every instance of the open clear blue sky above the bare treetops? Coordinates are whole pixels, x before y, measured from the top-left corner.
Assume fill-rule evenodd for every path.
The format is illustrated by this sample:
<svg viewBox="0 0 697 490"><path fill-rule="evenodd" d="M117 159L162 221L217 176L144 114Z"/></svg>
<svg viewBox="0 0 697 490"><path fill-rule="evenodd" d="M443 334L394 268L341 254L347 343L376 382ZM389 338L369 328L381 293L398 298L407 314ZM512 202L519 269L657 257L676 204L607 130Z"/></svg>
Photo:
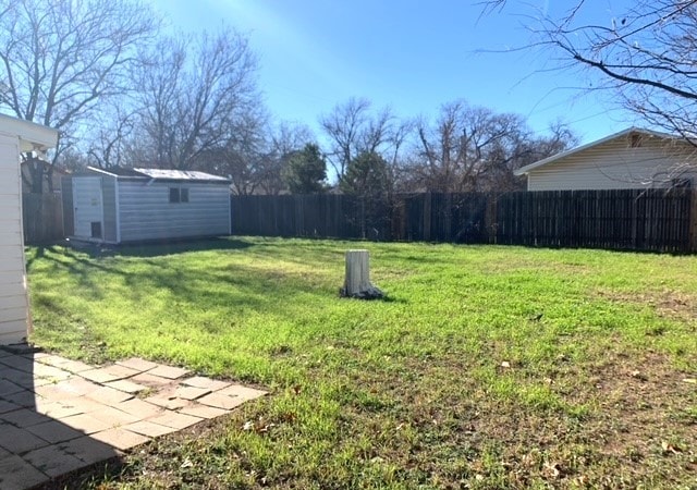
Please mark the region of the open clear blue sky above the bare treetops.
<svg viewBox="0 0 697 490"><path fill-rule="evenodd" d="M561 119L583 142L633 123L609 95L578 90L585 76L553 70L549 51L515 50L530 42L524 15L563 13L568 0L510 0L485 17L476 0L151 1L178 29L224 23L248 34L270 112L318 135L319 114L352 96L403 117L435 115L463 98L519 113L539 132ZM587 3L588 17L609 25L625 2Z"/></svg>

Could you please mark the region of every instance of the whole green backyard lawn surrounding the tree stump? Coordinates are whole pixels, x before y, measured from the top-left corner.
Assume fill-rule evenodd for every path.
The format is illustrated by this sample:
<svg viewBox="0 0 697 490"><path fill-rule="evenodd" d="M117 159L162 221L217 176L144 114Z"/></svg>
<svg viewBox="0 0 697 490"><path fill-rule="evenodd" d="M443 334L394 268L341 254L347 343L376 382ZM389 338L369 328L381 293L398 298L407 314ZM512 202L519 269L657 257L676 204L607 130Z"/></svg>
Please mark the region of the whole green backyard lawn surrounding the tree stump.
<svg viewBox="0 0 697 490"><path fill-rule="evenodd" d="M338 296L362 246L388 301ZM244 237L27 260L39 346L271 391L94 487L697 488L697 257Z"/></svg>

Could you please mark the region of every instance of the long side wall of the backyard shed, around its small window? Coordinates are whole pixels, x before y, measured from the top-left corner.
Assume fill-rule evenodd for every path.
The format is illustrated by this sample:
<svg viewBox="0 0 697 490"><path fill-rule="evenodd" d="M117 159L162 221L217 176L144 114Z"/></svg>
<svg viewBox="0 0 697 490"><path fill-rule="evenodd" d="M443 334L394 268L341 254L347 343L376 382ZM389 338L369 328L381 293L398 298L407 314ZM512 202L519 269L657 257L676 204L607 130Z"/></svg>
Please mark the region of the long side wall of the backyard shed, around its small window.
<svg viewBox="0 0 697 490"><path fill-rule="evenodd" d="M170 187L188 188L188 203L170 203ZM217 236L230 233L228 184L119 180L121 241Z"/></svg>

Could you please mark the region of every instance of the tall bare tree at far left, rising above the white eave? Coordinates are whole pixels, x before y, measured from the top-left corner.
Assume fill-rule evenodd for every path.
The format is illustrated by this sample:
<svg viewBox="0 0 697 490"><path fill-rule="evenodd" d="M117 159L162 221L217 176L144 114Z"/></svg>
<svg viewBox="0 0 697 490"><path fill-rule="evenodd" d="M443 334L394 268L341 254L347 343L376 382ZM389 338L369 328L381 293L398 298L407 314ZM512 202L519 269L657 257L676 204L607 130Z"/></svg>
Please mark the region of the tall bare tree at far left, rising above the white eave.
<svg viewBox="0 0 697 490"><path fill-rule="evenodd" d="M59 130L54 163L99 102L132 88L138 48L157 22L136 0L1 0L0 12L0 110ZM25 158L40 193L50 175Z"/></svg>

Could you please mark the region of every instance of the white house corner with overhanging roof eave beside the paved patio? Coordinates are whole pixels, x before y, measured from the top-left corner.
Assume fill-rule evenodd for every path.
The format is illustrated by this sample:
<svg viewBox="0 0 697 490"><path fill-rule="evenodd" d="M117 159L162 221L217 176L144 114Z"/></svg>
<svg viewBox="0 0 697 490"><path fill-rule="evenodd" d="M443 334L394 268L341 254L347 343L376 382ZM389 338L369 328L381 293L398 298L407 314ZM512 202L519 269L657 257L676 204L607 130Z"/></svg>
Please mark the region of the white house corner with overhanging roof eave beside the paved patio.
<svg viewBox="0 0 697 490"><path fill-rule="evenodd" d="M22 231L20 152L44 152L58 132L0 114L0 344L22 342L32 328Z"/></svg>

